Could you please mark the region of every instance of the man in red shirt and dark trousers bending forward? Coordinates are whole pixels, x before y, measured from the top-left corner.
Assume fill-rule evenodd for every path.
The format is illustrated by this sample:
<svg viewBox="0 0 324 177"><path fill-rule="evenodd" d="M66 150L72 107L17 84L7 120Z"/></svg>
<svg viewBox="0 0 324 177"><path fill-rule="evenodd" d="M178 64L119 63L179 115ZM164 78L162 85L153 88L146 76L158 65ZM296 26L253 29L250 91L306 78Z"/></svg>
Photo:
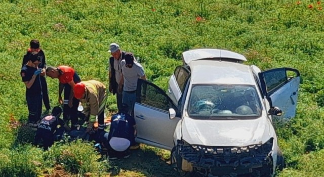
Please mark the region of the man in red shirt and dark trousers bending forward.
<svg viewBox="0 0 324 177"><path fill-rule="evenodd" d="M73 97L73 87L81 81L75 70L69 66L49 66L46 68L46 75L52 79L59 79L59 95L58 101L63 104L63 120L71 120L71 129L78 126L77 108L79 100ZM64 89L64 102L62 100L62 92Z"/></svg>

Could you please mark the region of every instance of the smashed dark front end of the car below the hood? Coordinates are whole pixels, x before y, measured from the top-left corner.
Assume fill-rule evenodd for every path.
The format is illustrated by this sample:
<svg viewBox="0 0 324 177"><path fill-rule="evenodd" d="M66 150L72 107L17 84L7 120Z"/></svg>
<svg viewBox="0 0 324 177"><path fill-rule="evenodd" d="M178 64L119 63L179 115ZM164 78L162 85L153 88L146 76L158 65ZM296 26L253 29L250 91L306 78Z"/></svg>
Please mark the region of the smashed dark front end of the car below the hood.
<svg viewBox="0 0 324 177"><path fill-rule="evenodd" d="M264 144L246 147L207 147L178 141L177 151L192 164L196 173L206 176L270 176L273 173L272 145L272 138Z"/></svg>

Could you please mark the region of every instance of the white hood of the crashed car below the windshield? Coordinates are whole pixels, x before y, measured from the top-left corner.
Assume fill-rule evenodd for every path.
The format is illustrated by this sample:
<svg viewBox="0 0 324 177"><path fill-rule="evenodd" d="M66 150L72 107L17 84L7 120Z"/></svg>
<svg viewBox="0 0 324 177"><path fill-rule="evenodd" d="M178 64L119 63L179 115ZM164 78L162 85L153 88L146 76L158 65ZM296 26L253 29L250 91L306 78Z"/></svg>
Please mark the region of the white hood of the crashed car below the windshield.
<svg viewBox="0 0 324 177"><path fill-rule="evenodd" d="M202 120L184 117L182 139L191 145L248 146L264 143L273 136L266 117L252 120Z"/></svg>

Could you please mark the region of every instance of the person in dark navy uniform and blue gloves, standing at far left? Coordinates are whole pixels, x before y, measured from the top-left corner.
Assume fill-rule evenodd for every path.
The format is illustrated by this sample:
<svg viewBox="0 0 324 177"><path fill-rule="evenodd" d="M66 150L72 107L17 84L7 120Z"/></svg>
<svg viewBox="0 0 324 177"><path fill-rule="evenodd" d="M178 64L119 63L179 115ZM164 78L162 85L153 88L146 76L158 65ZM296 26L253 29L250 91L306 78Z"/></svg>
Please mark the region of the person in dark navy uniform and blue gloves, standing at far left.
<svg viewBox="0 0 324 177"><path fill-rule="evenodd" d="M38 64L41 57L37 53L28 57L28 62L21 68L20 76L26 86L26 101L28 107L28 125L36 130L37 122L42 114L42 85Z"/></svg>

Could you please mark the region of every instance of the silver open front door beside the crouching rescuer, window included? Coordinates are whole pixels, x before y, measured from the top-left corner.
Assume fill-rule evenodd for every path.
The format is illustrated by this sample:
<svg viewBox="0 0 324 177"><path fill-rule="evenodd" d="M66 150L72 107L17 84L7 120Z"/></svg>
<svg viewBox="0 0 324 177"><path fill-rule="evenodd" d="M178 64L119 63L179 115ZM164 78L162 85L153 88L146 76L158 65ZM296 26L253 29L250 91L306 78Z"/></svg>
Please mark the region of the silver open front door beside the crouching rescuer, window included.
<svg viewBox="0 0 324 177"><path fill-rule="evenodd" d="M163 90L153 83L138 79L134 106L136 142L171 150L174 147L174 131L180 118L170 119L170 108L178 112Z"/></svg>

